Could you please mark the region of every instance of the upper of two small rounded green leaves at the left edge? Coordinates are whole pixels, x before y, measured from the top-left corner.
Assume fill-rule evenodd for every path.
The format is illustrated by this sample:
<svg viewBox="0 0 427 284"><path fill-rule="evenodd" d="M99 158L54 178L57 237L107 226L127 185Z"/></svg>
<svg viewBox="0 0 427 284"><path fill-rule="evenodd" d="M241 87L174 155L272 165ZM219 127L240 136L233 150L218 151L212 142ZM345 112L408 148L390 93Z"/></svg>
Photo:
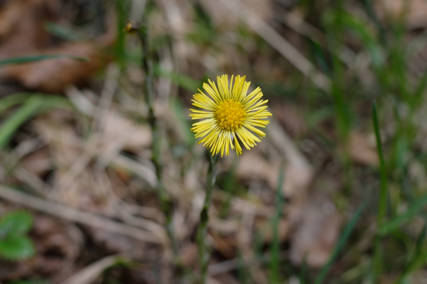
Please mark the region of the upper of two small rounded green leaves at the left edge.
<svg viewBox="0 0 427 284"><path fill-rule="evenodd" d="M23 235L32 228L32 215L25 211L9 212L0 220L0 240L9 235Z"/></svg>

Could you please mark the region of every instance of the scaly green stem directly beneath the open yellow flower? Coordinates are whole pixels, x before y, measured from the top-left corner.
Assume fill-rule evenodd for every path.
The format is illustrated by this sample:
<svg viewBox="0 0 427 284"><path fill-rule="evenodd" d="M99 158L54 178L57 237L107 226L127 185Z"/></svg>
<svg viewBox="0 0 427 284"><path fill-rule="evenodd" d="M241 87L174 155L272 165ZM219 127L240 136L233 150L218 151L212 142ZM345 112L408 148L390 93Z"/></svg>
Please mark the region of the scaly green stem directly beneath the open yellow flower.
<svg viewBox="0 0 427 284"><path fill-rule="evenodd" d="M200 224L197 229L196 242L199 247L199 260L200 260L200 274L201 274L201 283L205 284L206 276L208 272L208 261L211 257L208 247L206 246L206 235L207 227L209 221L209 206L212 201L213 186L215 185L216 175L218 170L216 169L216 164L219 160L219 154L214 156L207 151L209 157L209 169L208 169L208 179L206 182L206 197L205 203L203 204L202 212L200 212Z"/></svg>

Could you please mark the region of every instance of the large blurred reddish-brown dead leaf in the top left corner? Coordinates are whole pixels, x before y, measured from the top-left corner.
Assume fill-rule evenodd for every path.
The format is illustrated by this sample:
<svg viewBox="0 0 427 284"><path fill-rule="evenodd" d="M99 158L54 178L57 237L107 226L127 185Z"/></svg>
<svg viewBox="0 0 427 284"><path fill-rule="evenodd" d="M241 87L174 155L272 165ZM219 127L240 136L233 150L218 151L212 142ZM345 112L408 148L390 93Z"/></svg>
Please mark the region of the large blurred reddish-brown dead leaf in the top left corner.
<svg viewBox="0 0 427 284"><path fill-rule="evenodd" d="M113 43L111 26L100 36L98 43L69 42L52 46L53 36L46 32L46 21L61 18L58 0L9 1L0 10L0 58L24 55L67 54L89 57L91 62L67 58L42 60L0 68L0 79L16 80L28 89L43 92L62 92L69 84L81 84L102 68L107 58L103 46ZM114 17L108 17L114 22Z"/></svg>

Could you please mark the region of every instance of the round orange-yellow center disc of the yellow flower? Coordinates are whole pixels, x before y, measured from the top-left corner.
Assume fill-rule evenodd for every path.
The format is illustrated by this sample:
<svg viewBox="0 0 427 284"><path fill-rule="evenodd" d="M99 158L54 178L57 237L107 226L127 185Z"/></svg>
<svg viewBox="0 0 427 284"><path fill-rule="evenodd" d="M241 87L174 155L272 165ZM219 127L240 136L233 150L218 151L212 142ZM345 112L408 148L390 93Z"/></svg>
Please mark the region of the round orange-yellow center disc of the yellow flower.
<svg viewBox="0 0 427 284"><path fill-rule="evenodd" d="M235 100L223 100L218 104L215 118L221 129L234 131L245 121L246 112L240 102Z"/></svg>

